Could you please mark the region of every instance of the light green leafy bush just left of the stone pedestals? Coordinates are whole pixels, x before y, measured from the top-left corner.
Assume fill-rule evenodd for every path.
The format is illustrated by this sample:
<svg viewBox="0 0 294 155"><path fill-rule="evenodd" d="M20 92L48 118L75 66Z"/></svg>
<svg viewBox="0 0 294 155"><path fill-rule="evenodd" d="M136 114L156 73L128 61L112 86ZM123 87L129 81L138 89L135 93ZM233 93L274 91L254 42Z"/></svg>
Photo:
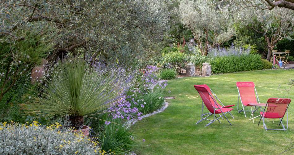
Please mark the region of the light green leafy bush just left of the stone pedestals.
<svg viewBox="0 0 294 155"><path fill-rule="evenodd" d="M165 66L171 66L179 73L183 73L185 63L187 62L187 54L181 52L170 52L163 54L162 64Z"/></svg>

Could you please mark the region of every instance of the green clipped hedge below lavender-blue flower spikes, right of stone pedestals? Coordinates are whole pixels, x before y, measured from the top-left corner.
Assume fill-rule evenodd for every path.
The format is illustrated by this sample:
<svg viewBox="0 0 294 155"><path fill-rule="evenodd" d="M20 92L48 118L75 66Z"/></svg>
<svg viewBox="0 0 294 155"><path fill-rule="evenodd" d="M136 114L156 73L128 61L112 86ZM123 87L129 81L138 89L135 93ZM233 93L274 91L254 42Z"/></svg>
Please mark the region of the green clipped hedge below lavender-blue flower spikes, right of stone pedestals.
<svg viewBox="0 0 294 155"><path fill-rule="evenodd" d="M232 73L262 69L260 55L214 57L210 64L213 73Z"/></svg>

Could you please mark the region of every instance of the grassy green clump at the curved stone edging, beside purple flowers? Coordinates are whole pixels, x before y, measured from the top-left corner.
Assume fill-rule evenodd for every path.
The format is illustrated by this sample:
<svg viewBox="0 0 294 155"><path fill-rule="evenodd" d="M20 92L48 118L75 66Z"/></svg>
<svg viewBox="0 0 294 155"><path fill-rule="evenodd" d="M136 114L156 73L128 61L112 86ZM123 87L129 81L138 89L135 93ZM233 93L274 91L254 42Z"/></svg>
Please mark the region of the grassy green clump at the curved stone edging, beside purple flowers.
<svg viewBox="0 0 294 155"><path fill-rule="evenodd" d="M159 85L161 86L161 84ZM158 87L159 88L159 87ZM162 90L156 89L146 94L139 94L137 96L137 104L132 106L137 107L139 112L143 115L153 113L159 108L162 108L164 104L164 94Z"/></svg>

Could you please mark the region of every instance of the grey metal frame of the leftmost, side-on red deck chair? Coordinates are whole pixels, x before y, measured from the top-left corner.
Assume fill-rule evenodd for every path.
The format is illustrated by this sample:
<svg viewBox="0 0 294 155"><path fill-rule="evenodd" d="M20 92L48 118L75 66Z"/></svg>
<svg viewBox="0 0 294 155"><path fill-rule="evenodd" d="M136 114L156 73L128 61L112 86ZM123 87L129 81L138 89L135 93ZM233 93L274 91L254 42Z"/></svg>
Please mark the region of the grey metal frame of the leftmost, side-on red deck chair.
<svg viewBox="0 0 294 155"><path fill-rule="evenodd" d="M210 89L210 91L211 91L211 89ZM218 97L214 94L214 92L213 91L211 91L211 93L213 93L213 95L217 98L217 100L223 105L223 103L218 99ZM210 97L213 99L213 101L214 101L214 113L205 113L205 114L203 114L203 108L204 108L204 102L203 102L203 100L202 100L202 109L201 109L201 119L199 120L199 121L197 121L197 123L196 124L198 124L198 123L200 123L200 122L202 122L203 120L208 120L208 121L210 121L209 123L207 123L205 126L209 126L211 123L213 123L213 122L215 122L216 120L218 121L218 122L220 122L218 119L219 118L222 118L223 119L223 116L227 119L227 121L230 123L230 125L232 125L231 124L231 122L228 120L228 118L227 118L227 116L225 115L226 113L229 113L230 115L231 115L231 117L234 119L234 117L233 117L233 115L228 111L228 112L226 112L226 113L223 113L223 111L222 111L222 107L219 107L218 106L218 104L216 104L216 100L214 99L214 97L208 92L208 94L210 95ZM220 113L219 113L219 117L216 117L215 116L215 105L217 105L217 107L219 108L219 110L222 112L222 114L223 115L221 115ZM224 105L223 105L224 106ZM210 120L210 119L207 119L207 117L209 117L210 115L212 115L213 114L213 120ZM208 116L206 116L206 117L203 117L203 116L205 116L205 115L208 115ZM224 120L224 119L223 119ZM221 123L221 122L220 122Z"/></svg>

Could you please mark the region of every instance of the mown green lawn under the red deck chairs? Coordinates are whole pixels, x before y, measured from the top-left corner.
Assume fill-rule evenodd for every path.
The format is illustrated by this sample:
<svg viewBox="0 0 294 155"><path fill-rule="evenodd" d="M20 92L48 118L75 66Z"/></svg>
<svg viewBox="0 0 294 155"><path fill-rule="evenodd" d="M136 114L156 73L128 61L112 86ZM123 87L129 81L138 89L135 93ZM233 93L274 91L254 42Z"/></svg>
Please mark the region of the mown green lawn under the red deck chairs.
<svg viewBox="0 0 294 155"><path fill-rule="evenodd" d="M294 88L289 94L277 90L279 85L281 89L288 88L287 82L290 78L294 78L294 70L259 70L213 75L207 78L170 80L165 93L167 96L174 96L175 99L167 100L169 106L162 113L144 118L132 126L132 131L136 133L136 139L141 144L136 153L144 155L279 154L287 148L291 138L294 137ZM244 117L244 113L237 113L236 81L254 82L262 103L270 97L292 99L289 106L288 130L265 131L262 125L257 126L260 117L255 119L253 124L252 120L249 121ZM198 93L193 87L194 84L210 86L224 105L236 104L232 107L235 119L227 114L232 126L222 119L222 124L214 122L208 127L205 127L208 121L195 124L200 119L201 98L195 97ZM250 113L247 113L249 116ZM275 124L272 120L267 121L267 126L276 127L277 121ZM145 139L145 142L142 142L142 139ZM294 149L284 154L293 153Z"/></svg>

